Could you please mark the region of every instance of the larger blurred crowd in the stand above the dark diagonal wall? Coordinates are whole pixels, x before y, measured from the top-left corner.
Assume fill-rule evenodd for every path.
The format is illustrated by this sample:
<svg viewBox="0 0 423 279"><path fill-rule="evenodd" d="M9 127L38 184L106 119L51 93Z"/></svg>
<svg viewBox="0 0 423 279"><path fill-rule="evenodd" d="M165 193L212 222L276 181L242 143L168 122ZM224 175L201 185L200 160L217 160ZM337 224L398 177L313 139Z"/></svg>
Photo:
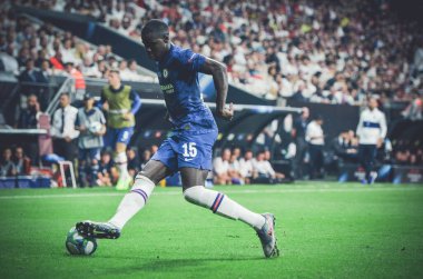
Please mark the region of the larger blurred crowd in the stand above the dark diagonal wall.
<svg viewBox="0 0 423 279"><path fill-rule="evenodd" d="M31 2L31 1L27 1ZM151 18L175 43L227 64L233 84L267 99L360 104L422 94L423 40L388 1L41 1L140 39Z"/></svg>

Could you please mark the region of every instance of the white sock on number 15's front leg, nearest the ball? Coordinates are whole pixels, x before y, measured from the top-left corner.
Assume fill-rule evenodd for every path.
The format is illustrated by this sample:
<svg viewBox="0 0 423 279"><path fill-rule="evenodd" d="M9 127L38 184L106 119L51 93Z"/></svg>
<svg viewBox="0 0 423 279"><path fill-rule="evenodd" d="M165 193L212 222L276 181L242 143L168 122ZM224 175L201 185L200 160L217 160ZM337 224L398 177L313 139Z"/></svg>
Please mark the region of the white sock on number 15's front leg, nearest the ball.
<svg viewBox="0 0 423 279"><path fill-rule="evenodd" d="M130 192L125 195L116 215L109 220L109 223L122 229L125 223L144 208L154 189L155 183L151 180L138 175L135 178Z"/></svg>

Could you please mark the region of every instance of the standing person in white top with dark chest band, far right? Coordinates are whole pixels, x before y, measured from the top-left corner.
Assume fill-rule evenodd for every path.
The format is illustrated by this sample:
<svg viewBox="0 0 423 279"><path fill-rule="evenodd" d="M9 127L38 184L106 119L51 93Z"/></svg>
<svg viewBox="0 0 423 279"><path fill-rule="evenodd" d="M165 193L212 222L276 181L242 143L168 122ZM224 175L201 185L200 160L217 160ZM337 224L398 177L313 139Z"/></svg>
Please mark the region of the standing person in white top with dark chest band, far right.
<svg viewBox="0 0 423 279"><path fill-rule="evenodd" d="M386 119L385 114L377 109L376 98L368 99L367 108L360 114L357 126L358 137L358 158L360 163L364 168L365 179L363 183L373 183L377 173L372 169L376 158L377 148L380 148L386 137Z"/></svg>

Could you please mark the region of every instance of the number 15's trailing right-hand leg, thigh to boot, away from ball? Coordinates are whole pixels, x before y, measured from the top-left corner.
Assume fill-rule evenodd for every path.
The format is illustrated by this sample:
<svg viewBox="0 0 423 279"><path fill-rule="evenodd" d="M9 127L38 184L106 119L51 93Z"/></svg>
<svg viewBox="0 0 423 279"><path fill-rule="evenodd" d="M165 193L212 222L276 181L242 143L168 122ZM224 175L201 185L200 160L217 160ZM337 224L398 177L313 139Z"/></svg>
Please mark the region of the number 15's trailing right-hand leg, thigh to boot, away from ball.
<svg viewBox="0 0 423 279"><path fill-rule="evenodd" d="M267 258L277 257L279 251L276 246L276 236L274 231L275 218L270 213L259 215L240 206L226 195L206 189L204 187L207 170L195 168L180 168L180 175L184 186L184 197L187 201L209 208L214 213L219 216L240 220L253 227L263 246L263 251Z"/></svg>

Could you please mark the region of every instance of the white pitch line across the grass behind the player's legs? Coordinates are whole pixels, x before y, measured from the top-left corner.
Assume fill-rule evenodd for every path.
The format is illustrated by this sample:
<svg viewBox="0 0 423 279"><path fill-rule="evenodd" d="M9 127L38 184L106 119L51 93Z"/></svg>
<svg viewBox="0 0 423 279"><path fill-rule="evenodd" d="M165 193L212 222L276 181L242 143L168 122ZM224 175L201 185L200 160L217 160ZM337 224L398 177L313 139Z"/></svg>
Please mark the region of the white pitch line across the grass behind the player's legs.
<svg viewBox="0 0 423 279"><path fill-rule="evenodd" d="M218 190L218 188L215 188ZM291 189L249 189L249 190L226 190L224 193L296 193L296 192L373 192L373 191L410 191L421 189L419 187L403 187L403 188L291 188ZM180 191L165 191L155 192L156 196L176 196L181 195ZM57 193L57 195L33 195L33 196L2 196L0 200L11 200L11 199L51 199L51 198L96 198L96 197L121 197L124 192L100 192L100 193Z"/></svg>

